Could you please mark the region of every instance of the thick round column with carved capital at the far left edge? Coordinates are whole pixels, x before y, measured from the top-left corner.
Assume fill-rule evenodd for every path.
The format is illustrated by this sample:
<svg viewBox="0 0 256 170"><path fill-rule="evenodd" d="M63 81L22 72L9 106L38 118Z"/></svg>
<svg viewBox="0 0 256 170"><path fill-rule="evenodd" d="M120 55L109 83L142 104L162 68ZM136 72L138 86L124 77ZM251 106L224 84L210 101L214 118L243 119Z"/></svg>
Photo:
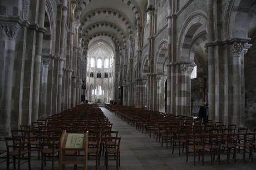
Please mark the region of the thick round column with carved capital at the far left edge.
<svg viewBox="0 0 256 170"><path fill-rule="evenodd" d="M12 117L12 86L13 86L13 64L14 51L16 46L16 37L18 25L2 23L1 28L6 37L4 49L4 81L2 87L2 101L0 112L0 131L3 135L8 136L11 130L10 122Z"/></svg>

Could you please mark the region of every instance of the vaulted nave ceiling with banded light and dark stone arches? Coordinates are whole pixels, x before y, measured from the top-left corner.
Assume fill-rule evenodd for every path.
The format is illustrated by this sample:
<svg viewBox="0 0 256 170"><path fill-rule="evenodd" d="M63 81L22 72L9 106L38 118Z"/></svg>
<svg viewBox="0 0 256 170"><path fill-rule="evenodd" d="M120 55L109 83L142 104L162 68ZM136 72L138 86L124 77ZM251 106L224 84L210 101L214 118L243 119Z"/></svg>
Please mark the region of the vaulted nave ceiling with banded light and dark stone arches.
<svg viewBox="0 0 256 170"><path fill-rule="evenodd" d="M76 22L80 24L82 46L93 47L97 42L114 42L116 48L125 48L141 25L147 0L78 0Z"/></svg>

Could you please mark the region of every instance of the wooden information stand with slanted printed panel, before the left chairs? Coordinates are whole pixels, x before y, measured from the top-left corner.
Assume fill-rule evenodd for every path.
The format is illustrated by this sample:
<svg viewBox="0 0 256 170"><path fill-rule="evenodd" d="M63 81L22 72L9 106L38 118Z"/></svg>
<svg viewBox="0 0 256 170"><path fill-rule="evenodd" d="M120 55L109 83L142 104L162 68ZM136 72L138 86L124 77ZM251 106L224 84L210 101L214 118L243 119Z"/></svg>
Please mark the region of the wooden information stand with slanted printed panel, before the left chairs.
<svg viewBox="0 0 256 170"><path fill-rule="evenodd" d="M66 151L80 151L80 154L65 154ZM84 151L82 153L81 151ZM62 132L60 140L60 170L66 164L84 164L87 170L88 160L88 131L86 133Z"/></svg>

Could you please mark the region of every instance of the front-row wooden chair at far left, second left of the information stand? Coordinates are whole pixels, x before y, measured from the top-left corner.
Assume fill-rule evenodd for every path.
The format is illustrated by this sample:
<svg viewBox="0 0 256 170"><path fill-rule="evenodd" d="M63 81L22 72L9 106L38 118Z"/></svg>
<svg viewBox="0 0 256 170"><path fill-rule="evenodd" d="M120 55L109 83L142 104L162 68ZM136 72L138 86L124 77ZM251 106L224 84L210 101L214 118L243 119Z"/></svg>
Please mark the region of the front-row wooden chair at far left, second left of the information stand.
<svg viewBox="0 0 256 170"><path fill-rule="evenodd" d="M19 170L21 164L25 162L28 162L28 169L31 170L30 150L29 148L27 150L24 150L24 141L22 141L22 138L6 137L4 139L6 141L6 148L7 148L7 155L6 155L7 170L9 169L10 163L13 163L14 169L16 169L16 163L17 163L18 170ZM16 159L18 159L18 162L16 162Z"/></svg>

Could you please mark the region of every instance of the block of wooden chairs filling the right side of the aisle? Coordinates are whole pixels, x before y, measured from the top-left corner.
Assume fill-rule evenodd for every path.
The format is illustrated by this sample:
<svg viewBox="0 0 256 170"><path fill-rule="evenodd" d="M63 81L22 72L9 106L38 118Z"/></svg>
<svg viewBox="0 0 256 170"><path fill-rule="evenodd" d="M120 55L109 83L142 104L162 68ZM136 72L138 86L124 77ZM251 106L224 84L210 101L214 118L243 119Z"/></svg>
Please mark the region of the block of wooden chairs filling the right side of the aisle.
<svg viewBox="0 0 256 170"><path fill-rule="evenodd" d="M203 125L200 119L194 119L194 117L175 116L130 106L107 105L107 108L131 126L136 126L140 132L145 132L150 137L152 135L156 141L161 142L161 146L166 143L166 148L168 148L168 143L170 143L173 147L172 152L177 146L179 156L186 150L187 161L190 150L193 150L194 164L195 153L200 153L203 157L205 151L210 153L211 163L215 157L214 153L217 152L220 163L220 149L227 152L227 162L230 158L230 151L233 151L234 159L237 152L242 152L245 162L247 150L253 161L252 150L256 146L255 130L254 133L249 133L248 128L237 128L234 124L224 125L223 122L211 120Z"/></svg>

